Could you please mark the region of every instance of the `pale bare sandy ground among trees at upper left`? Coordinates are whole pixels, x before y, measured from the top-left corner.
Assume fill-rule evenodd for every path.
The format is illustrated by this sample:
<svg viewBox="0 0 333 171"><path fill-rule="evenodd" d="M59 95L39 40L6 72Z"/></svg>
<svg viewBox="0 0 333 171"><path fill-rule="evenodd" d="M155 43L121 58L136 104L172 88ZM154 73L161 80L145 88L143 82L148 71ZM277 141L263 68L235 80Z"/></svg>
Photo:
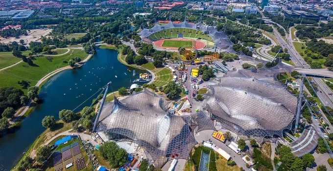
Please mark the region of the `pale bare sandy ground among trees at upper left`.
<svg viewBox="0 0 333 171"><path fill-rule="evenodd" d="M52 29L33 29L33 30L30 30L28 31L28 36L21 36L19 39L16 39L14 37L11 37L11 38L7 38L7 39L4 39L4 38L0 38L0 42L1 43L10 43L10 42L20 42L21 39L24 40L24 43L28 44L30 42L39 42L41 36L47 36L50 32L52 31Z"/></svg>

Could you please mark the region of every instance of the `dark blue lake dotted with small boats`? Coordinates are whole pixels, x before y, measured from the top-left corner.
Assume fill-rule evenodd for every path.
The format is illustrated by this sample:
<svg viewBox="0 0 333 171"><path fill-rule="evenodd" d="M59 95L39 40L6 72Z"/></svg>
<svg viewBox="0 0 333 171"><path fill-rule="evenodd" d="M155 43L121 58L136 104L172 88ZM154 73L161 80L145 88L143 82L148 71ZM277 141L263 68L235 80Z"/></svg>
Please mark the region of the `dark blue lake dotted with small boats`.
<svg viewBox="0 0 333 171"><path fill-rule="evenodd" d="M0 171L12 169L23 152L46 129L42 126L45 116L51 115L59 119L60 110L73 110L83 103L74 110L78 112L83 107L90 106L99 93L87 99L108 82L112 82L109 92L117 91L122 86L127 88L132 85L131 82L145 72L121 64L117 60L117 54L116 50L97 48L93 57L81 68L62 71L49 79L39 93L43 104L35 107L20 127L0 137ZM133 70L136 70L135 76ZM84 102L85 100L87 101Z"/></svg>

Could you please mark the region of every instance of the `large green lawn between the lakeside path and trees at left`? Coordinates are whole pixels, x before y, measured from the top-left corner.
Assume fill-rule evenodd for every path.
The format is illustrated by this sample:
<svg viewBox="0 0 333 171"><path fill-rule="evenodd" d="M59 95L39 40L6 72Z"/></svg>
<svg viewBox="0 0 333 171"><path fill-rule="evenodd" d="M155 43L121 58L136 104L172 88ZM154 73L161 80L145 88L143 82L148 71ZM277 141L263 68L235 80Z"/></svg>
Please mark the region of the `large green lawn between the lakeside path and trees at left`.
<svg viewBox="0 0 333 171"><path fill-rule="evenodd" d="M30 82L30 85L35 85L41 78L43 78L48 73L68 66L68 63L64 61L69 61L75 56L80 57L84 60L88 54L86 54L81 49L71 49L67 54L51 57L49 61L46 56L35 57L33 59L33 65L29 66L27 63L20 63L8 69L0 71L0 87L13 86L16 88L21 88L21 85L17 84L18 81ZM27 89L22 89L24 93Z"/></svg>

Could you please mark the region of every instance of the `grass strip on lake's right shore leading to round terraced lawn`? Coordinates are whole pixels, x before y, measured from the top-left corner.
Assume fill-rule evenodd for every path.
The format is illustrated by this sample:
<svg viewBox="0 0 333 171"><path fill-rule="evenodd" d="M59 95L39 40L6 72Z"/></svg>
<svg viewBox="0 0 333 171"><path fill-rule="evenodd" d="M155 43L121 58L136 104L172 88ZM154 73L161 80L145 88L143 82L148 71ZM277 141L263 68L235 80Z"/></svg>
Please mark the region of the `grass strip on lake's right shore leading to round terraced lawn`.
<svg viewBox="0 0 333 171"><path fill-rule="evenodd" d="M118 50L118 61L124 65L131 66L138 69L147 69L150 70L151 74L155 75L155 80L152 82L152 84L155 84L156 86L163 86L166 85L168 82L170 82L173 79L173 74L170 69L168 68L157 68L152 63L146 63L142 64L141 67L135 64L127 64L125 61L126 56L122 55L122 46L120 45L119 48L116 48L114 45L100 45L99 48L102 49L114 49Z"/></svg>

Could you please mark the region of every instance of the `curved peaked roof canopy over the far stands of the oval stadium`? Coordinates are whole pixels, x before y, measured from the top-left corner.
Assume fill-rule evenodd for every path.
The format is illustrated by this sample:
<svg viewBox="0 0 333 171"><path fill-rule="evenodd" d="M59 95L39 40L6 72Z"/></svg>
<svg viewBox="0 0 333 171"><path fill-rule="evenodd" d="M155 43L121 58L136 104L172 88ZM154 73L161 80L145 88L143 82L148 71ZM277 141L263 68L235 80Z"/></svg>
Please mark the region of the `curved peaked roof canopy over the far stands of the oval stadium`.
<svg viewBox="0 0 333 171"><path fill-rule="evenodd" d="M180 22L180 23L173 23L171 21L171 18L169 19L170 22L168 22L166 25L159 25L155 24L152 28L144 28L139 35L142 38L147 38L150 35L166 30L166 29L171 29L171 28L189 28L189 29L194 29L198 31L202 31L205 34L208 34L213 40L215 47L220 48L220 49L226 49L229 46L232 46L233 43L229 40L228 36L223 32L223 31L217 31L215 29L215 26L207 26L202 23L200 20L199 23L196 24L191 24L186 21L186 16L185 16L185 21Z"/></svg>

